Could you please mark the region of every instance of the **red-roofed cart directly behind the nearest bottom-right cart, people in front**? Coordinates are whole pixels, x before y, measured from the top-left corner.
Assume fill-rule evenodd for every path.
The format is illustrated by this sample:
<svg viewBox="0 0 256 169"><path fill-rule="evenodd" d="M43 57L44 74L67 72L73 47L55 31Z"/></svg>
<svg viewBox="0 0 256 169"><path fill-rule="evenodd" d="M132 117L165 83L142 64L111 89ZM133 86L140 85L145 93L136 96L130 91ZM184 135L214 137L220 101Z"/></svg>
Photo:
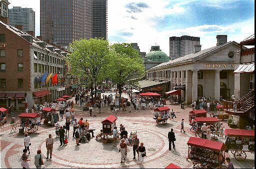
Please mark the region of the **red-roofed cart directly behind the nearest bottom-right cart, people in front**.
<svg viewBox="0 0 256 169"><path fill-rule="evenodd" d="M194 132L195 136L202 136L201 126L203 123L206 123L206 125L210 125L210 131L212 134L215 134L216 130L214 129L215 123L218 122L218 119L216 117L195 117L194 121L197 123L197 129Z"/></svg>

